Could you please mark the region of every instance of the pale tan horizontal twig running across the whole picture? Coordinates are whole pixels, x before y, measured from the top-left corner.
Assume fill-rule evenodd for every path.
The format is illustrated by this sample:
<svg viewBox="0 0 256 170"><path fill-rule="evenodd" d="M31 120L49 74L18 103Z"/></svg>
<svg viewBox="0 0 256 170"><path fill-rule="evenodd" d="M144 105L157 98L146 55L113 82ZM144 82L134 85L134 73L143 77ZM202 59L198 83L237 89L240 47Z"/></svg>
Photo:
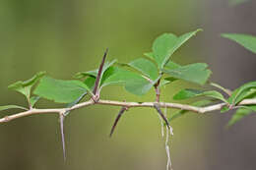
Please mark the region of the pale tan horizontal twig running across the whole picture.
<svg viewBox="0 0 256 170"><path fill-rule="evenodd" d="M32 108L31 110L25 111L25 112L20 112L17 114L13 114L10 116L5 116L0 119L0 123L5 123L12 121L14 119L34 115L34 114L48 114L48 113L57 113L61 114L67 111L72 111L76 110L82 107L87 107L90 105L111 105L111 106L124 106L124 107L155 107L156 102L124 102L124 101L113 101L113 100L98 100L95 102L94 100L89 100L85 101L79 104L76 104L70 108L55 108L55 109L36 109ZM244 99L242 100L238 105L250 105L250 104L256 104L256 98L253 99ZM210 105L206 107L196 107L196 106L191 106L188 104L179 104L179 103L168 103L168 102L158 102L158 105L163 108L175 108L175 109L181 109L181 110L188 110L192 111L195 113L207 113L207 112L212 112L212 111L217 111L221 110L226 103L219 103L215 105Z"/></svg>

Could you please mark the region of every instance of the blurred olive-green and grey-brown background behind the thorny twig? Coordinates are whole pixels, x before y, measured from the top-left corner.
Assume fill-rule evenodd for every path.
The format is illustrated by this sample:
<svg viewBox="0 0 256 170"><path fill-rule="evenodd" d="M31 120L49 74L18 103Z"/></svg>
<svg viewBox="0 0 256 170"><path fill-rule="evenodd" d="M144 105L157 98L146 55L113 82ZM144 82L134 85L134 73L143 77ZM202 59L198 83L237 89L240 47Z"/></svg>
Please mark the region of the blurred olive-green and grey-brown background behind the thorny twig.
<svg viewBox="0 0 256 170"><path fill-rule="evenodd" d="M72 79L108 59L129 62L151 51L162 32L181 34L203 28L177 51L180 64L209 63L212 81L231 89L255 81L255 54L220 36L222 32L256 34L256 2L236 6L227 0L1 0L0 105L26 105L25 98L7 86L27 80L38 71L56 79ZM190 85L168 85L161 99ZM109 86L102 98L153 100L123 87ZM61 107L41 100L37 107ZM108 134L119 108L93 106L65 119L67 161L63 161L56 115L34 115L0 126L0 164L5 170L45 169L165 169L164 140L154 110L131 109L121 119L112 139ZM12 114L16 112L3 112ZM168 111L169 112L169 111ZM187 114L171 123L174 170L256 169L255 116L230 129L232 112Z"/></svg>

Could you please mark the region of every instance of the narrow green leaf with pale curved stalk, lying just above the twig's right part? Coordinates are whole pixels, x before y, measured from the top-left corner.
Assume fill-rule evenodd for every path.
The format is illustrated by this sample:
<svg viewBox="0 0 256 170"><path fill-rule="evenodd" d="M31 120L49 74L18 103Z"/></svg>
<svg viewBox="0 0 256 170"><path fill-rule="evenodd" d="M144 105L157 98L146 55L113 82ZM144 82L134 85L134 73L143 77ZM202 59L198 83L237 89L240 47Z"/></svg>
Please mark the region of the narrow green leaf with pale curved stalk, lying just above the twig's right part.
<svg viewBox="0 0 256 170"><path fill-rule="evenodd" d="M198 89L182 89L173 96L175 100L188 99L191 97L206 96L215 99L222 100L227 103L223 94L216 90L203 91Z"/></svg>

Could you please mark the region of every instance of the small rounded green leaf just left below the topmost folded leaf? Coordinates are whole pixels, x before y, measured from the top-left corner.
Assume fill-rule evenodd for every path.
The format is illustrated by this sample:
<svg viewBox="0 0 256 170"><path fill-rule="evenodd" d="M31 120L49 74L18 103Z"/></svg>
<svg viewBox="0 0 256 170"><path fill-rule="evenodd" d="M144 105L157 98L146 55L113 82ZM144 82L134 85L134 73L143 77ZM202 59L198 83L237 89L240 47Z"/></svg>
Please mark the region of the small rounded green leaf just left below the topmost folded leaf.
<svg viewBox="0 0 256 170"><path fill-rule="evenodd" d="M157 80L159 77L158 68L155 66L154 63L152 63L147 59L144 59L144 58L136 59L130 62L128 66L141 72L144 76L148 77L152 81Z"/></svg>

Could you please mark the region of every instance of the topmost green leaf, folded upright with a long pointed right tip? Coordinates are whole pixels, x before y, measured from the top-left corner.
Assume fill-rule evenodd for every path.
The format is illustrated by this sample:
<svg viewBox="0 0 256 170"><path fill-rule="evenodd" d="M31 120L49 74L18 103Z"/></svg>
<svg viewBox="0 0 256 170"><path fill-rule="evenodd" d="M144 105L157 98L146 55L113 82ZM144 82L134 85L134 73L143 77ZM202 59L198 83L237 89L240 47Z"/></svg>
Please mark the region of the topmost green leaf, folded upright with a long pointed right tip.
<svg viewBox="0 0 256 170"><path fill-rule="evenodd" d="M153 43L153 57L158 63L159 68L163 69L171 55L200 30L202 29L185 33L179 37L172 33L163 33L160 35Z"/></svg>

